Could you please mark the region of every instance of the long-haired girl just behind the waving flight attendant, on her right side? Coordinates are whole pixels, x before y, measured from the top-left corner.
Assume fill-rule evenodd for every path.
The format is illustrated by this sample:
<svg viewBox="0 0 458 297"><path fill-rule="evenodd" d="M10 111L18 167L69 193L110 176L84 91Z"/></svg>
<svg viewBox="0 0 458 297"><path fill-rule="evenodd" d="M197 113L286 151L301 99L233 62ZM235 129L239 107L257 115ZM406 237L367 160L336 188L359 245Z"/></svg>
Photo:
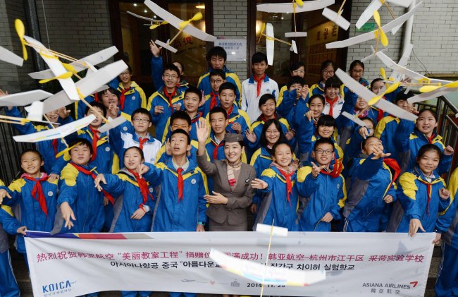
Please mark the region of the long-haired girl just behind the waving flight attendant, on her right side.
<svg viewBox="0 0 458 297"><path fill-rule="evenodd" d="M256 171L256 177L261 178L261 174L264 170L271 166L272 160L272 147L276 143L284 143L285 134L283 134L283 127L280 121L276 119L267 120L259 137L259 149L252 155L252 160L249 163L254 167ZM255 193L253 197L253 204L250 210L253 214L256 214L259 206L261 205L262 195L261 193Z"/></svg>

